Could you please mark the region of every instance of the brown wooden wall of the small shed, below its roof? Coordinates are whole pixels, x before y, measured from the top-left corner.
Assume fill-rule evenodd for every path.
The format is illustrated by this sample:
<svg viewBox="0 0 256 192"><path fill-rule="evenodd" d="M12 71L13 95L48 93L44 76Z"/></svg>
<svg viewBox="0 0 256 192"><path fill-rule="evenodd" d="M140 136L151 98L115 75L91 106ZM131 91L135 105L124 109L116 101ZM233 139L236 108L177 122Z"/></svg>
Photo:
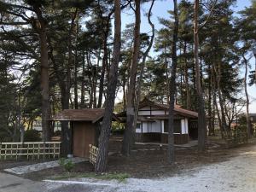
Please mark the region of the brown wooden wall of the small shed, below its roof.
<svg viewBox="0 0 256 192"><path fill-rule="evenodd" d="M89 144L95 144L96 125L91 122L73 122L73 155L89 157Z"/></svg>

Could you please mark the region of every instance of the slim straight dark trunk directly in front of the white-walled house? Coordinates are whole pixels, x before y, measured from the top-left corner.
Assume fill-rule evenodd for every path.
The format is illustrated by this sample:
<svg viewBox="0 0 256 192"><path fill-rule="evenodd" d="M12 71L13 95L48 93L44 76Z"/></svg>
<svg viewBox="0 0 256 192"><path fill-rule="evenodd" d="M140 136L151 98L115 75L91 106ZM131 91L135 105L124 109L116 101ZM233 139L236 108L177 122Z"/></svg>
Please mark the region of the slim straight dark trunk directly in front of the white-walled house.
<svg viewBox="0 0 256 192"><path fill-rule="evenodd" d="M168 118L168 149L167 161L172 164L175 160L174 154L174 104L176 93L176 70L177 70L177 33L178 33L178 15L177 15L177 0L173 0L174 4L174 30L172 43L172 76L170 79L170 104Z"/></svg>

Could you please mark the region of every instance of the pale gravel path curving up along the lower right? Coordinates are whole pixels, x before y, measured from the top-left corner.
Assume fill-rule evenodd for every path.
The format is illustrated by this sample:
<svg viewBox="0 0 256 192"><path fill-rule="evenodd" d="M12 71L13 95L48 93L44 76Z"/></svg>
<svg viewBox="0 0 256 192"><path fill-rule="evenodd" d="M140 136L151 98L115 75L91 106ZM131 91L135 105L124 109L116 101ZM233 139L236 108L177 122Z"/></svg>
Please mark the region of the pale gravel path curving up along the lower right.
<svg viewBox="0 0 256 192"><path fill-rule="evenodd" d="M127 183L110 183L117 192L255 192L256 146L228 161L196 168L176 177L129 178ZM109 191L109 188L102 191Z"/></svg>

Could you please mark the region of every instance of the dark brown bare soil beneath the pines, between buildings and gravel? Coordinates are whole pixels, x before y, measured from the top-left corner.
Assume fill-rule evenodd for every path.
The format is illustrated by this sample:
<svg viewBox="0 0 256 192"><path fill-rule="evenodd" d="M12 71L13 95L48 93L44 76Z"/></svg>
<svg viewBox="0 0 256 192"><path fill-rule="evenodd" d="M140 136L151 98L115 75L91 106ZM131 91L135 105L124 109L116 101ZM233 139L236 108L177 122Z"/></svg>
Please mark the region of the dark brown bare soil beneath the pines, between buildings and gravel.
<svg viewBox="0 0 256 192"><path fill-rule="evenodd" d="M159 145L136 145L130 157L125 157L119 153L121 139L115 137L110 141L110 151L114 152L108 159L108 172L128 173L131 177L154 178L168 177L179 173L191 172L192 168L203 167L210 164L230 160L256 143L247 143L239 148L224 148L224 144L207 144L207 152L199 154L196 147L176 148L176 162L169 165L166 162L166 146L160 148ZM216 147L218 146L218 147ZM150 149L150 150L149 150ZM35 163L35 161L0 161L0 171L3 168L23 166ZM93 172L94 167L89 162L76 164L73 172ZM24 174L23 177L32 180L42 180L45 178L61 175L65 171L61 167L46 169L40 172Z"/></svg>

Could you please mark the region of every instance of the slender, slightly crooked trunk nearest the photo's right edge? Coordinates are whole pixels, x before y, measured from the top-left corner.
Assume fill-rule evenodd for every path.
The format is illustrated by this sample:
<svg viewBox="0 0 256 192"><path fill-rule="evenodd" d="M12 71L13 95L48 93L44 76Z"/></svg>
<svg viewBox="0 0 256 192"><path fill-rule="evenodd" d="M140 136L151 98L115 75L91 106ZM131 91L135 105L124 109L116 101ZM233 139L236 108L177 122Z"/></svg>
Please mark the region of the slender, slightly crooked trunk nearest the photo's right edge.
<svg viewBox="0 0 256 192"><path fill-rule="evenodd" d="M251 128L251 122L250 122L250 117L249 117L249 96L248 96L248 92L247 92L247 71L248 71L248 67L247 67L247 58L245 57L245 54L242 54L242 58L244 61L244 65L245 65L245 73L244 73L244 91L246 94L246 98L247 98L247 137L251 138L252 137L252 128Z"/></svg>

